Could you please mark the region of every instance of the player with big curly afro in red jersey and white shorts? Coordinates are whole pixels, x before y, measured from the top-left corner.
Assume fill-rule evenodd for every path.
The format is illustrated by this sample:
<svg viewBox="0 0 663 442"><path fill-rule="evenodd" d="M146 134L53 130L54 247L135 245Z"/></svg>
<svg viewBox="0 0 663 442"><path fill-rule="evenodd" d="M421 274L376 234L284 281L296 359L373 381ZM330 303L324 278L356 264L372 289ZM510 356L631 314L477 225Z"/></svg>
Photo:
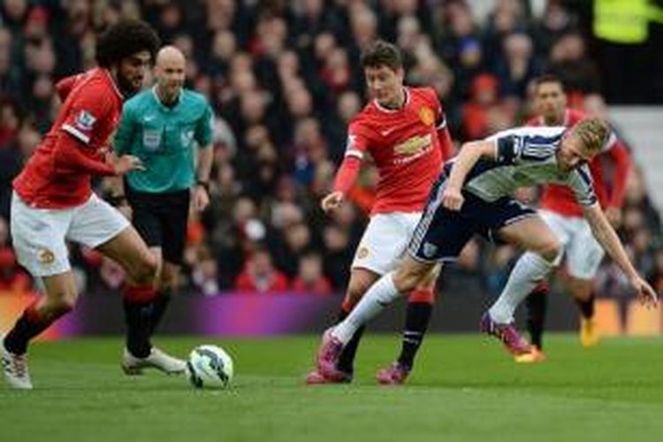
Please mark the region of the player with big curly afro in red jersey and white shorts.
<svg viewBox="0 0 663 442"><path fill-rule="evenodd" d="M50 132L13 181L11 238L19 263L42 278L45 295L29 306L2 341L5 380L30 389L27 345L78 297L65 240L101 251L120 263L131 283L124 294L135 313L127 318L128 334L144 338L141 308L156 293L156 260L138 233L117 210L100 200L92 176L123 175L141 170L135 156L111 158L124 94L141 88L159 40L141 21L122 21L96 42L98 67L58 84L64 103Z"/></svg>

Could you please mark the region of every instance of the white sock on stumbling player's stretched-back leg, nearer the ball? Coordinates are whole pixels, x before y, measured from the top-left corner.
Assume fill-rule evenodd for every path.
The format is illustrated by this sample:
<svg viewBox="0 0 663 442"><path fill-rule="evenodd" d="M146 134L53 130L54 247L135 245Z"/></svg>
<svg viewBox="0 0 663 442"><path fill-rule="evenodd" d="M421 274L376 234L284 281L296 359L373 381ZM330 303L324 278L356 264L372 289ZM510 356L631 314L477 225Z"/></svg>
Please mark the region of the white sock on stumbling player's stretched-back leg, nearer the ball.
<svg viewBox="0 0 663 442"><path fill-rule="evenodd" d="M400 292L393 284L392 275L393 272L389 272L382 278L377 279L376 283L370 286L369 291L363 295L362 301L359 301L343 322L334 328L333 335L344 345L352 339L354 331L368 323L370 319L377 316L388 304L400 296Z"/></svg>

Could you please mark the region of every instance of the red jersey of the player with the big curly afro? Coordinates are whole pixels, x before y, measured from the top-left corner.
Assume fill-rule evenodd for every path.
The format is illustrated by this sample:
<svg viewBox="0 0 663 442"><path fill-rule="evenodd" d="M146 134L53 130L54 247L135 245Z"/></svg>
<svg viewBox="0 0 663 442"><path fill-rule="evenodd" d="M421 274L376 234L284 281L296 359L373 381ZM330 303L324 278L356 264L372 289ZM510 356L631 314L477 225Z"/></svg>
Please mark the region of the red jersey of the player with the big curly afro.
<svg viewBox="0 0 663 442"><path fill-rule="evenodd" d="M112 175L104 162L122 112L110 73L95 68L58 83L65 99L50 132L14 179L14 190L32 207L78 206L92 193L92 175Z"/></svg>

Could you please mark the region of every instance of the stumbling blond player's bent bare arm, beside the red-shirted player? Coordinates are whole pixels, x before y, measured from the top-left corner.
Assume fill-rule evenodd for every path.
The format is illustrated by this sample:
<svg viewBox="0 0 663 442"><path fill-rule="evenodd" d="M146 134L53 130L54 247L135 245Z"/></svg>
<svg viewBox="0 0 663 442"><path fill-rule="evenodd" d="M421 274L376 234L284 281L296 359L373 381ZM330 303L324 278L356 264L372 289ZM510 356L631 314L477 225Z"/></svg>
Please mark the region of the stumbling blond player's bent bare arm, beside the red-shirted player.
<svg viewBox="0 0 663 442"><path fill-rule="evenodd" d="M449 179L447 179L445 190L442 193L442 204L446 209L461 210L462 203L465 201L461 189L469 171L481 158L496 160L498 149L499 141L493 140L472 141L462 145L460 153L453 161Z"/></svg>

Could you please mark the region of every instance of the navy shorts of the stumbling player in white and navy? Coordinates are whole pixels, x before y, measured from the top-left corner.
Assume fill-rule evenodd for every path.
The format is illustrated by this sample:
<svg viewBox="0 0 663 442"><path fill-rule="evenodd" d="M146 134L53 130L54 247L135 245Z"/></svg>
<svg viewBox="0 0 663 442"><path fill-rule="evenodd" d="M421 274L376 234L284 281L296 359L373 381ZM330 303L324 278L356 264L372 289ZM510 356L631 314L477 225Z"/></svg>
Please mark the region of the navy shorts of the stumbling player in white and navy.
<svg viewBox="0 0 663 442"><path fill-rule="evenodd" d="M461 210L447 210L441 201L445 187L446 176L442 175L431 189L408 245L409 255L417 261L453 261L475 233L495 240L495 233L502 227L537 213L511 197L486 202L465 191Z"/></svg>

